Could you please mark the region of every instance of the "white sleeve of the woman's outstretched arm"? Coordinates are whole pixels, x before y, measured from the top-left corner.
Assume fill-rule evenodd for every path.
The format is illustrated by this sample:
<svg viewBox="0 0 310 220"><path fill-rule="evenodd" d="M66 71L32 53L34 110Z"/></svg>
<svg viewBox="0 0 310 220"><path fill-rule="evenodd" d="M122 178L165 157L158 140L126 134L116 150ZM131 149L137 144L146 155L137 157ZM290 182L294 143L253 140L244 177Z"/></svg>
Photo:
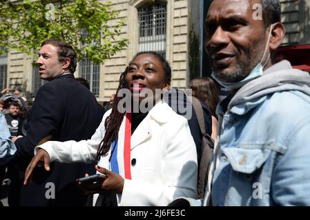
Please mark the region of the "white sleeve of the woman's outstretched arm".
<svg viewBox="0 0 310 220"><path fill-rule="evenodd" d="M69 140L66 142L50 141L36 146L35 153L37 153L39 148L44 149L50 155L50 162L93 162L97 155L99 144L104 138L104 122L109 113L110 111L104 114L101 123L99 124L96 132L93 134L90 140L81 140L79 142L74 140Z"/></svg>

